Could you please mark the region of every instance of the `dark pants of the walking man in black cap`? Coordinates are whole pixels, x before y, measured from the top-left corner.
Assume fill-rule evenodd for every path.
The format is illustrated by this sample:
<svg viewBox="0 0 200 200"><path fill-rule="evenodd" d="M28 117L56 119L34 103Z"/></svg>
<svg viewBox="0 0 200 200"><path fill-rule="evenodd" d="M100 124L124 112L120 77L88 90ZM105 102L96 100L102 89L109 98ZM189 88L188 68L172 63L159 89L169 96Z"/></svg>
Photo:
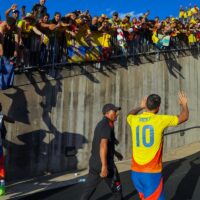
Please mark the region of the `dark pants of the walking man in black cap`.
<svg viewBox="0 0 200 200"><path fill-rule="evenodd" d="M81 200L89 200L93 195L93 193L95 192L98 184L102 180L104 180L105 183L110 188L113 194L113 200L122 199L122 186L120 182L120 177L116 166L114 166L113 169L109 170L108 177L106 178L101 178L99 173L95 173L93 171L89 172L86 178L85 188Z"/></svg>

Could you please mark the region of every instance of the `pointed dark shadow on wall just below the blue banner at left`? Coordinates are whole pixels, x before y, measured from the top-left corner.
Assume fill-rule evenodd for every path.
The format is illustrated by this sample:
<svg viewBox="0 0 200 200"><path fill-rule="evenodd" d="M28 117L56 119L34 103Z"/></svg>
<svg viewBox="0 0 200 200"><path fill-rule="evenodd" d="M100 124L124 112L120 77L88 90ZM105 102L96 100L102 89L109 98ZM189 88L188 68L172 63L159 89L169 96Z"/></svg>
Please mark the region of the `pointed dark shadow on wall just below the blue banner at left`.
<svg viewBox="0 0 200 200"><path fill-rule="evenodd" d="M18 87L13 88L15 89L14 93L4 93L7 97L12 99L11 106L8 110L8 116L12 116L15 121L30 124L28 103L24 90Z"/></svg>

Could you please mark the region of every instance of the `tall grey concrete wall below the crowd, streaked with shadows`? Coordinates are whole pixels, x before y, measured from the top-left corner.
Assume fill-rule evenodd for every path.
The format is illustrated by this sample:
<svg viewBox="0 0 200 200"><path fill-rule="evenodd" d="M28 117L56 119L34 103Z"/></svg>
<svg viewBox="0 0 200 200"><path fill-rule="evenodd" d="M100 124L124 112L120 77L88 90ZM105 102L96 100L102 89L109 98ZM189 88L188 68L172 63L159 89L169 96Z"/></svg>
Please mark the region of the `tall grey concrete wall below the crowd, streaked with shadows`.
<svg viewBox="0 0 200 200"><path fill-rule="evenodd" d="M16 86L0 94L4 113L16 120L15 124L6 124L8 180L86 168L93 130L102 118L102 106L108 102L122 107L116 135L120 141L117 148L126 159L131 158L126 114L144 95L158 93L162 97L161 113L178 114L177 92L184 90L189 97L190 120L173 130L199 125L197 55L170 56L140 65L120 62L123 65L104 64L105 70L100 71L91 66L67 67L57 71L56 80L42 72L16 76ZM164 151L196 141L200 141L200 134L195 128L168 135Z"/></svg>

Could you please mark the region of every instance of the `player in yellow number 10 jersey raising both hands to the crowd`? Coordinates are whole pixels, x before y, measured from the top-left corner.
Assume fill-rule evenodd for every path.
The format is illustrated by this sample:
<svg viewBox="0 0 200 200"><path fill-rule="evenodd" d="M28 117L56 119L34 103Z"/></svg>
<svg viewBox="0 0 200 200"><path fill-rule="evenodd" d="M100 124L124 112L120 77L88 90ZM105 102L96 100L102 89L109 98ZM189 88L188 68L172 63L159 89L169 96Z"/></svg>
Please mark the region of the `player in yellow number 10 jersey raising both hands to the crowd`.
<svg viewBox="0 0 200 200"><path fill-rule="evenodd" d="M161 98L151 94L138 108L129 112L127 121L132 130L131 178L142 200L164 200L162 178L163 131L188 120L187 97L178 93L181 112L178 116L158 115ZM142 114L138 114L146 109ZM138 115L137 115L138 114Z"/></svg>

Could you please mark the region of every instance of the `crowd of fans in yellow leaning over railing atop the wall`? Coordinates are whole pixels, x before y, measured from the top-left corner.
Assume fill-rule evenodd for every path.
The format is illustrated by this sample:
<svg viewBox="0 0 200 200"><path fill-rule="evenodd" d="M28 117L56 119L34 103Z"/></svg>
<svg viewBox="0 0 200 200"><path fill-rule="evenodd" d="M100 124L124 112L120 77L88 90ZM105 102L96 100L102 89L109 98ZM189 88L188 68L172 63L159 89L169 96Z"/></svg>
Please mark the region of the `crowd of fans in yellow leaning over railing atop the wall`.
<svg viewBox="0 0 200 200"><path fill-rule="evenodd" d="M178 18L150 20L149 13L147 11L138 18L128 14L120 18L118 12L114 12L109 18L105 14L91 16L89 10L76 10L64 16L55 12L50 19L45 0L40 0L29 13L25 6L18 10L13 4L5 12L6 20L0 22L0 56L14 59L19 67L44 66L47 60L48 63L67 62L67 40L76 46L76 36L82 34L92 51L95 32L111 35L109 49L118 47L133 55L147 51L143 44L158 49L199 44L200 12L197 5L181 7ZM113 51L107 52L105 59Z"/></svg>

